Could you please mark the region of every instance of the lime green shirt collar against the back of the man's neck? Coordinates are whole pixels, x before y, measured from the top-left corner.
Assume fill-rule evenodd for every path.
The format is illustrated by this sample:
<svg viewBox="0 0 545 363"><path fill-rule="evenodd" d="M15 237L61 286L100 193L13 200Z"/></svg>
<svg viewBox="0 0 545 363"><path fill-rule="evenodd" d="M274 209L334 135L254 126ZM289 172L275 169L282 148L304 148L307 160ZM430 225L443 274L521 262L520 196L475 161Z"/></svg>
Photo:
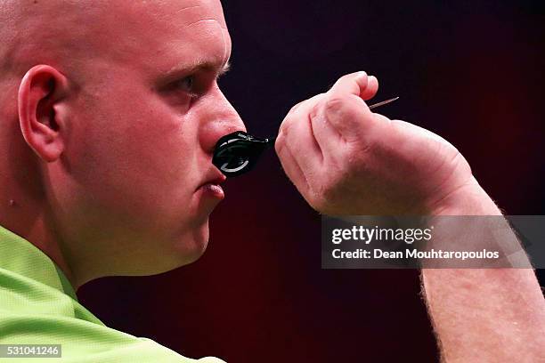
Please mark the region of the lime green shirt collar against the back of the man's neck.
<svg viewBox="0 0 545 363"><path fill-rule="evenodd" d="M74 288L61 268L25 238L0 226L0 269L10 270L68 294L77 301Z"/></svg>

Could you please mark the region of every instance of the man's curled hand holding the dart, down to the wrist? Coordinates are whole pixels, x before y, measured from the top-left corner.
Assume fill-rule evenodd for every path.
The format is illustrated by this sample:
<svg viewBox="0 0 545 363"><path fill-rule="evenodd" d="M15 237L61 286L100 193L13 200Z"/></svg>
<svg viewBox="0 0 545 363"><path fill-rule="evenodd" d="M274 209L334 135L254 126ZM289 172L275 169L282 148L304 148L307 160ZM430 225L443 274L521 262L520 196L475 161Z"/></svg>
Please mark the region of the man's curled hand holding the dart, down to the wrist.
<svg viewBox="0 0 545 363"><path fill-rule="evenodd" d="M365 72L297 104L275 149L289 179L322 214L435 214L453 193L475 186L468 162L419 126L373 113L378 90Z"/></svg>

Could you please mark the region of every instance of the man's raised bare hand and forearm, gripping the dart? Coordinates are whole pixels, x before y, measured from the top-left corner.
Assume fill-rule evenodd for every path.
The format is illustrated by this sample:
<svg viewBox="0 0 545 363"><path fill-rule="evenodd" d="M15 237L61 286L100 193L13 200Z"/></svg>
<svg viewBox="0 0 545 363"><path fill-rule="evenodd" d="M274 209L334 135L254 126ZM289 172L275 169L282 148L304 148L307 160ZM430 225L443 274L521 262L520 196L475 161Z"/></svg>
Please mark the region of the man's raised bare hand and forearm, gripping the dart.
<svg viewBox="0 0 545 363"><path fill-rule="evenodd" d="M276 150L306 201L324 214L500 215L450 143L370 112L377 88L375 77L347 75L284 119ZM545 359L533 270L424 269L422 286L443 361Z"/></svg>

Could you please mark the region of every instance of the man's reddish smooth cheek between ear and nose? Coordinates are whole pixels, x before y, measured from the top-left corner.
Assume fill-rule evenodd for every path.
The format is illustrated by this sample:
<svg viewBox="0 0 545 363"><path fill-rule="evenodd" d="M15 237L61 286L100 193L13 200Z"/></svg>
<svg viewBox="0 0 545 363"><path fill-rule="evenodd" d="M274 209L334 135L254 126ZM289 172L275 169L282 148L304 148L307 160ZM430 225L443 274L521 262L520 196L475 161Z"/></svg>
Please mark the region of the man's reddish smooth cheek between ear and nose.
<svg viewBox="0 0 545 363"><path fill-rule="evenodd" d="M96 103L70 135L70 176L94 198L132 213L167 213L191 198L188 186L199 182L196 123L143 94Z"/></svg>

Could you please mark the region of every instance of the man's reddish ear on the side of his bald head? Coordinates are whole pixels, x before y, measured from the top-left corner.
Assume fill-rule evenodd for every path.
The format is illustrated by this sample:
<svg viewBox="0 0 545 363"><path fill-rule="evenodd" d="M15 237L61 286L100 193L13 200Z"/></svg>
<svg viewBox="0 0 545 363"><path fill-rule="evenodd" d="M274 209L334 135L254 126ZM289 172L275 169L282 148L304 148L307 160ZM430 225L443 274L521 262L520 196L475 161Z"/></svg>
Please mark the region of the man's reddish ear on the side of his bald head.
<svg viewBox="0 0 545 363"><path fill-rule="evenodd" d="M28 70L19 86L20 130L38 157L53 162L61 157L64 113L61 101L68 93L68 80L53 67L38 65Z"/></svg>

